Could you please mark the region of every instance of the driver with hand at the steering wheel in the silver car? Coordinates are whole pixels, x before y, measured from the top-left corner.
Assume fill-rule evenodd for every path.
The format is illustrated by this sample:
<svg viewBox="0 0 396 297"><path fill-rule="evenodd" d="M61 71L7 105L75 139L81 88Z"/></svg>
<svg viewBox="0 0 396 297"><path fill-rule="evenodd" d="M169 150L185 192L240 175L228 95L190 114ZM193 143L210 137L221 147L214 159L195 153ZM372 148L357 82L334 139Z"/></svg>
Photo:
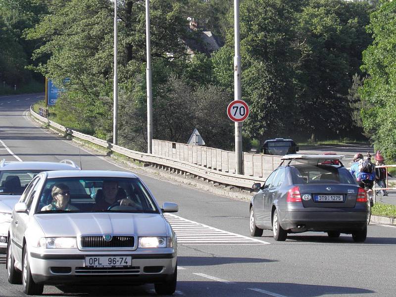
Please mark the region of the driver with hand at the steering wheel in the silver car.
<svg viewBox="0 0 396 297"><path fill-rule="evenodd" d="M110 206L117 205L127 205L142 209L142 207L132 199L127 198L124 189L118 187L117 181L104 181L102 190L98 190L95 200L96 204L93 210L106 210Z"/></svg>

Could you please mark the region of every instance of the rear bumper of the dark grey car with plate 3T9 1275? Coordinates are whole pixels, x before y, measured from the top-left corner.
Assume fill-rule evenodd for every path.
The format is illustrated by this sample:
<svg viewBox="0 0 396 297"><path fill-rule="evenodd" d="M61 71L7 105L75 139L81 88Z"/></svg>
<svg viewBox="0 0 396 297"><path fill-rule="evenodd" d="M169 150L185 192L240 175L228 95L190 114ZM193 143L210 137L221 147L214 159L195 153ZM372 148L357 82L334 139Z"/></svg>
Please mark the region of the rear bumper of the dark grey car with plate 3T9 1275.
<svg viewBox="0 0 396 297"><path fill-rule="evenodd" d="M340 231L351 233L367 225L367 211L351 209L284 209L280 210L280 225L291 232Z"/></svg>

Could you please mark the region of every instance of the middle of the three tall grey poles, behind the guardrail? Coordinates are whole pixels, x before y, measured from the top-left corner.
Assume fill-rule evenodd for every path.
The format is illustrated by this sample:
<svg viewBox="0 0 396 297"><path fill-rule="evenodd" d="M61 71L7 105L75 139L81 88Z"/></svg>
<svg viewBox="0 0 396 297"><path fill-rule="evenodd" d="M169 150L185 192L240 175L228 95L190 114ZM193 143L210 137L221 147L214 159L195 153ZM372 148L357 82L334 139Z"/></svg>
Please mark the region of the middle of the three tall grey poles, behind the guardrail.
<svg viewBox="0 0 396 297"><path fill-rule="evenodd" d="M151 153L152 142L152 92L150 56L150 0L146 0L146 87L147 87L147 152Z"/></svg>

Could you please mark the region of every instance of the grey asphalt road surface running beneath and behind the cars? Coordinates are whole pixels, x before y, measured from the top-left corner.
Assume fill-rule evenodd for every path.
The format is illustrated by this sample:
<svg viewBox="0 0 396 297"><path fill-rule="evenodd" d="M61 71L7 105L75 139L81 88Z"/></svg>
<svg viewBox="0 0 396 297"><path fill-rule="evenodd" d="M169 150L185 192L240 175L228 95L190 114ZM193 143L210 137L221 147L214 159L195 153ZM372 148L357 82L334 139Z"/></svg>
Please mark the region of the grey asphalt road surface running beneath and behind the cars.
<svg viewBox="0 0 396 297"><path fill-rule="evenodd" d="M37 97L0 97L0 159L68 158L80 164L81 157L84 169L129 170L99 153L79 149L71 141L33 123L26 110ZM330 240L321 233L291 235L286 242L275 242L270 231L264 231L259 241L253 241L248 234L246 201L212 195L139 170L135 173L148 184L160 204L163 201L179 204L180 211L170 221L184 220L219 234L217 241L207 236L194 237L194 233L190 238L178 237L180 268L175 296L396 296L396 227L370 225L368 238L362 244L354 243L350 235ZM228 234L227 240L224 234ZM0 255L0 296L23 296L21 286L7 282L4 263L5 255ZM152 285L117 288L103 285L46 286L44 294L155 296Z"/></svg>

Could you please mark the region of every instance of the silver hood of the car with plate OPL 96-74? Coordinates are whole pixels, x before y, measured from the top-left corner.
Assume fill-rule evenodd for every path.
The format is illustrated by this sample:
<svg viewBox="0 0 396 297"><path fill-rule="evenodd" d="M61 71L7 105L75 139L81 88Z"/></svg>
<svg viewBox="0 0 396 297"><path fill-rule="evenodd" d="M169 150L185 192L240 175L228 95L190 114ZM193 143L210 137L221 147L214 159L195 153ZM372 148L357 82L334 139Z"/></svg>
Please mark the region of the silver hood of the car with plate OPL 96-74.
<svg viewBox="0 0 396 297"><path fill-rule="evenodd" d="M46 237L133 234L166 236L166 221L158 213L46 213L35 218Z"/></svg>

